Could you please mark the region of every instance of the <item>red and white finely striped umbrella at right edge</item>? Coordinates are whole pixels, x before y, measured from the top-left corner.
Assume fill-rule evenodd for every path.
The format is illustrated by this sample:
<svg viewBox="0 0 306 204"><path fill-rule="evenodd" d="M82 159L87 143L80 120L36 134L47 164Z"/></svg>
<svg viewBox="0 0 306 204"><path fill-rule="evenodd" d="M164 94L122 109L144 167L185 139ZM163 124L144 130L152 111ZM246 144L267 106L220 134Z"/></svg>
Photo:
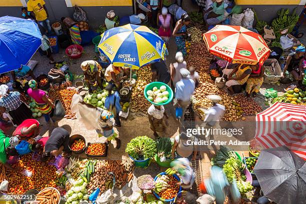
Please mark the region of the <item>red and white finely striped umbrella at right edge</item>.
<svg viewBox="0 0 306 204"><path fill-rule="evenodd" d="M306 106L276 102L258 113L255 140L265 148L285 145L306 160Z"/></svg>

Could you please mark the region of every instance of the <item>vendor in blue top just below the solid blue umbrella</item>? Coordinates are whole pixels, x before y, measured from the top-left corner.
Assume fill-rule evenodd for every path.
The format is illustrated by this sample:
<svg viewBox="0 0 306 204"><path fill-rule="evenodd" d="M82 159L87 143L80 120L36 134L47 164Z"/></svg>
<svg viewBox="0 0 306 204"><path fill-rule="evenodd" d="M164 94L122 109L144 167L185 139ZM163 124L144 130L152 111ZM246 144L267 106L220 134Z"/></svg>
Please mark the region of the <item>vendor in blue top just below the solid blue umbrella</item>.
<svg viewBox="0 0 306 204"><path fill-rule="evenodd" d="M24 92L28 89L28 81L30 79L36 80L32 70L27 65L21 65L20 68L10 72L14 81L13 87Z"/></svg>

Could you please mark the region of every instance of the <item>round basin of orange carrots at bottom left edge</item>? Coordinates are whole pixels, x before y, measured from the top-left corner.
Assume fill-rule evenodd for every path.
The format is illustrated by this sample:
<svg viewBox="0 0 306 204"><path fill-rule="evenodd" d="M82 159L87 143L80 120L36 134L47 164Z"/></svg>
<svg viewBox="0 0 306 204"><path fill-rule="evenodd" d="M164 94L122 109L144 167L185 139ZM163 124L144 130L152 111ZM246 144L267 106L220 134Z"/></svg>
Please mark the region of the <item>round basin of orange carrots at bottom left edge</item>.
<svg viewBox="0 0 306 204"><path fill-rule="evenodd" d="M60 194L51 187L44 188L36 196L36 201L39 201L39 204L57 204L59 199Z"/></svg>

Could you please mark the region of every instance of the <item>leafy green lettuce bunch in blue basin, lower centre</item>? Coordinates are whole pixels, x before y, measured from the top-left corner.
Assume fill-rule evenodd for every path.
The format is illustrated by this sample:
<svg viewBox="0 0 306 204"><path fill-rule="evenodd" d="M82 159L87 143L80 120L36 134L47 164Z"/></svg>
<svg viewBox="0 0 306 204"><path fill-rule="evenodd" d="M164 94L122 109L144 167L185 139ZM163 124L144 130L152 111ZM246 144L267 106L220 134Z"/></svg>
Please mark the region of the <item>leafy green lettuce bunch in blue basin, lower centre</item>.
<svg viewBox="0 0 306 204"><path fill-rule="evenodd" d="M137 136L127 143L125 152L137 160L152 158L156 153L156 143L150 137Z"/></svg>

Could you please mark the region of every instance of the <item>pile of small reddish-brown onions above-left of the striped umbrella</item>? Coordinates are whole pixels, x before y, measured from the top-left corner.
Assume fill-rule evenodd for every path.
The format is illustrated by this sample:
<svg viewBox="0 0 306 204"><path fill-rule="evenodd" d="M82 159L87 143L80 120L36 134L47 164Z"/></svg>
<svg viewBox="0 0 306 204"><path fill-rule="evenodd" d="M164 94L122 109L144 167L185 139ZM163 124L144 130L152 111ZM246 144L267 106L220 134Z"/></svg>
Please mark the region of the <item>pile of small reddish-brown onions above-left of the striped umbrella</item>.
<svg viewBox="0 0 306 204"><path fill-rule="evenodd" d="M234 100L240 104L245 115L254 115L261 111L261 107L252 98L247 98L243 94L234 96Z"/></svg>

